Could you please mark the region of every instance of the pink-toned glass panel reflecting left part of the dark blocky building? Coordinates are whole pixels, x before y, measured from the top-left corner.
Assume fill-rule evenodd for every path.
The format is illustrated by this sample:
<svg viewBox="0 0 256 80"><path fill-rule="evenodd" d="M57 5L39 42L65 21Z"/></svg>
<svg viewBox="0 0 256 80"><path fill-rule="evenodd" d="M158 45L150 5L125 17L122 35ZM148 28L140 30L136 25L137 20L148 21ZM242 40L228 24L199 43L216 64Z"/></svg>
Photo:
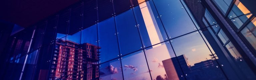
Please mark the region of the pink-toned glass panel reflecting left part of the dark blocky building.
<svg viewBox="0 0 256 80"><path fill-rule="evenodd" d="M146 48L145 54L152 80L185 80L169 41Z"/></svg>

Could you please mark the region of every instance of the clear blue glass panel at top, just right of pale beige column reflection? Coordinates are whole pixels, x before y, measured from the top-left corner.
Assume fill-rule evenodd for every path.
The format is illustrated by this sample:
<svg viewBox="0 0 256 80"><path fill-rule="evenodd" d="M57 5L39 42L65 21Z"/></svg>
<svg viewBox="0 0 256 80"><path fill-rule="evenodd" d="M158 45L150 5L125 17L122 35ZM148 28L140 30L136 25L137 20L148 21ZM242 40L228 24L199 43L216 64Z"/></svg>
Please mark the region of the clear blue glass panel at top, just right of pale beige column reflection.
<svg viewBox="0 0 256 80"><path fill-rule="evenodd" d="M179 0L154 0L154 3L169 37L178 37L196 30Z"/></svg>

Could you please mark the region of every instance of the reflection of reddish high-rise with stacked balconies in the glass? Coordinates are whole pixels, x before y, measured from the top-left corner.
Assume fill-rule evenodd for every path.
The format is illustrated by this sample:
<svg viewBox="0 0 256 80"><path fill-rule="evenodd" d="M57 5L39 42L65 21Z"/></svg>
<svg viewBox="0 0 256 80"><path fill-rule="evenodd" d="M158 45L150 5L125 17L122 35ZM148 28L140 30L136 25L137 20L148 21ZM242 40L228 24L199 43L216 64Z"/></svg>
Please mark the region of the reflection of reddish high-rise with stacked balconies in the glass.
<svg viewBox="0 0 256 80"><path fill-rule="evenodd" d="M81 48L79 48L81 47ZM91 80L98 74L98 47L89 43L57 40L51 66L50 79Z"/></svg>

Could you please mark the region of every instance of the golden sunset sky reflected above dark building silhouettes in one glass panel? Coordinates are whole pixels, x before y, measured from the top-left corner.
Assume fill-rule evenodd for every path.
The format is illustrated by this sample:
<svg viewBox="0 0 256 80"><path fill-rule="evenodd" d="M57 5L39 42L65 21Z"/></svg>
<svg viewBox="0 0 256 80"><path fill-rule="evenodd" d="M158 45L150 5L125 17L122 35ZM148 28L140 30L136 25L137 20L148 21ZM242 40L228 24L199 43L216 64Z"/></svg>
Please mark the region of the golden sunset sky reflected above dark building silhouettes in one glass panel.
<svg viewBox="0 0 256 80"><path fill-rule="evenodd" d="M199 32L190 33L173 39L172 41L173 42L171 43L176 55L180 56L185 54L188 57L189 64L192 66L195 63L211 59L209 56L211 52L204 43L204 40L200 36Z"/></svg>

